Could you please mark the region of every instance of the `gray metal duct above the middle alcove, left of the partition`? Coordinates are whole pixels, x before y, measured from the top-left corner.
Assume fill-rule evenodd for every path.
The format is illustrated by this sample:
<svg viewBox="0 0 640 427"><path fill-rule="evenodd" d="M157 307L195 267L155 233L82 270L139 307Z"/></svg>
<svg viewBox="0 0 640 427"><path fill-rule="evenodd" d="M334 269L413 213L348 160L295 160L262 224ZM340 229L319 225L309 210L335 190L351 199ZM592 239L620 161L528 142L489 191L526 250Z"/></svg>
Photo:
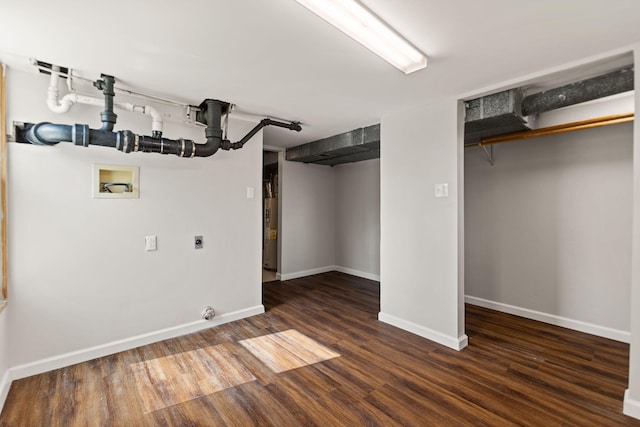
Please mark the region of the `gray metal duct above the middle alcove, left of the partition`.
<svg viewBox="0 0 640 427"><path fill-rule="evenodd" d="M379 157L379 124L287 148L286 152L287 160L329 166Z"/></svg>

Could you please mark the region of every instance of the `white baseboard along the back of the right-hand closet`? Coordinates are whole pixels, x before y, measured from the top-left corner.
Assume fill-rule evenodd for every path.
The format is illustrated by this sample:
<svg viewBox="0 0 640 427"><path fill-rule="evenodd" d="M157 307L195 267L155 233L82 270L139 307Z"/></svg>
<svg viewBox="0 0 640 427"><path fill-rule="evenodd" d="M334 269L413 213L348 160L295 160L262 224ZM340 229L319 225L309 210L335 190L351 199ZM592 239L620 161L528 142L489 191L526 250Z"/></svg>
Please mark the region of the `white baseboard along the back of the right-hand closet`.
<svg viewBox="0 0 640 427"><path fill-rule="evenodd" d="M624 343L629 343L631 341L630 332L607 328L606 326L594 325L580 320L569 319L567 317L556 316L555 314L543 313L541 311L530 310L528 308L516 307L514 305L503 304L501 302L489 301L469 295L465 296L464 300L466 303L471 305L490 308L503 313L524 317L526 319L549 323L550 325L562 326L563 328L573 329L574 331L585 332L587 334Z"/></svg>

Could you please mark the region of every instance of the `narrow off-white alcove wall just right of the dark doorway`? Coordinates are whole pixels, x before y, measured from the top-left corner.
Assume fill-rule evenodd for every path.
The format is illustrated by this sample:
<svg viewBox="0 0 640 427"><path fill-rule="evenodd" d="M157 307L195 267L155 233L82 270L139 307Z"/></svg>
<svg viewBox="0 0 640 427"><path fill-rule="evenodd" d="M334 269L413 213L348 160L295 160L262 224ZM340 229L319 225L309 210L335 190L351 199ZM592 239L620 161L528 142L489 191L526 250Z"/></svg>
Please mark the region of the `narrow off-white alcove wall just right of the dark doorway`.
<svg viewBox="0 0 640 427"><path fill-rule="evenodd" d="M335 265L335 175L328 166L281 161L278 271L282 280Z"/></svg>

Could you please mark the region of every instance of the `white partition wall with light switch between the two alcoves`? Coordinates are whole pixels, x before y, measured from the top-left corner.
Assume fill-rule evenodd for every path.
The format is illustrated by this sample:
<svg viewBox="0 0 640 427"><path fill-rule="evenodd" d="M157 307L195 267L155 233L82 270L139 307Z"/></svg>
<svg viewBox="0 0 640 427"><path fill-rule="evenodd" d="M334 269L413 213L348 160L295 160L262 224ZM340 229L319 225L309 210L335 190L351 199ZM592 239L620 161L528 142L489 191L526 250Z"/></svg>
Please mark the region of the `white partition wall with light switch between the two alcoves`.
<svg viewBox="0 0 640 427"><path fill-rule="evenodd" d="M459 104L433 104L381 123L379 319L452 348L466 345L458 265L462 156ZM447 183L449 197L435 198Z"/></svg>

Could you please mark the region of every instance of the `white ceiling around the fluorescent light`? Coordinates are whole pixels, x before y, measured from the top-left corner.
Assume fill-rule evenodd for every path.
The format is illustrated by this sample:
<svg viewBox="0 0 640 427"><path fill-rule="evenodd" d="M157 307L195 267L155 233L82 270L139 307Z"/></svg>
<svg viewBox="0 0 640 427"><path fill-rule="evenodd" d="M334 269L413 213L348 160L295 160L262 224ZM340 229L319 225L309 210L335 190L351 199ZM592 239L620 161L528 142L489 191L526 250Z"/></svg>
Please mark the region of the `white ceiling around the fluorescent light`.
<svg viewBox="0 0 640 427"><path fill-rule="evenodd" d="M265 130L292 146L640 42L638 0L362 1L429 56L425 70L405 76L294 0L4 1L0 60L298 120L300 133Z"/></svg>

